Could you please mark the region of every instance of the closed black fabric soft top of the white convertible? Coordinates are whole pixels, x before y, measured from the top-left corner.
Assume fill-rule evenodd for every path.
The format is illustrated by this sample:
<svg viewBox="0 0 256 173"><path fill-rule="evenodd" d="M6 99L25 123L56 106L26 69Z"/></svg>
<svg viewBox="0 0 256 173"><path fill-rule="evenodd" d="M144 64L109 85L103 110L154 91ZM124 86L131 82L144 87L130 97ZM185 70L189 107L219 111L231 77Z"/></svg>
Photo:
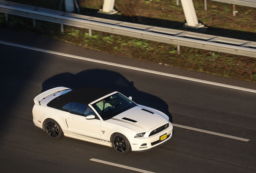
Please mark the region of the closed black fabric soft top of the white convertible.
<svg viewBox="0 0 256 173"><path fill-rule="evenodd" d="M61 95L56 99L53 99L52 101L50 101L50 103L47 104L47 106L56 109L61 109L64 105L70 102L89 105L89 103L113 92L115 91L104 88L81 87L69 91L68 93Z"/></svg>

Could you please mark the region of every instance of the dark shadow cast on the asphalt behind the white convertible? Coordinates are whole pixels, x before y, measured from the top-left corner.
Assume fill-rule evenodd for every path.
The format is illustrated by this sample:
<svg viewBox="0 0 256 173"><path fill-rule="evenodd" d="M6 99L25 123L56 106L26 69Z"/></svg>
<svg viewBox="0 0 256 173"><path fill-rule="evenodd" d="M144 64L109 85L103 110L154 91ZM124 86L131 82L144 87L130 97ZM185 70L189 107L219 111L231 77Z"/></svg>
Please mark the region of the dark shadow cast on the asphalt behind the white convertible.
<svg viewBox="0 0 256 173"><path fill-rule="evenodd" d="M92 69L72 74L69 72L57 74L45 80L42 84L42 92L54 87L68 87L76 89L79 87L102 87L118 91L126 97L132 96L132 100L147 107L157 109L165 113L172 123L168 105L159 97L138 91L132 81L128 81L118 72Z"/></svg>

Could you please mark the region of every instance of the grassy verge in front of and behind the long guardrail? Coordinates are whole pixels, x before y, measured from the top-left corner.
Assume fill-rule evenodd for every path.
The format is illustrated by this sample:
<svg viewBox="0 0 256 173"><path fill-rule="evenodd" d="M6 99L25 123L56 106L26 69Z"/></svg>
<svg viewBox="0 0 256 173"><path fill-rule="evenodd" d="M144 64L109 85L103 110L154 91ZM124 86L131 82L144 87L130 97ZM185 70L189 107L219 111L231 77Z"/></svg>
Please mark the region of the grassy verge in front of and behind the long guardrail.
<svg viewBox="0 0 256 173"><path fill-rule="evenodd" d="M56 1L50 0L11 1L57 10L59 8L59 4ZM48 4L43 2L48 2ZM134 2L136 6L131 2ZM253 20L256 18L256 10L254 8L236 6L238 13L234 17L232 16L231 4L213 1L208 1L207 3L208 10L204 11L203 1L194 0L198 19L209 27L207 34L256 41L256 22ZM99 16L97 11L101 8L103 1L80 0L79 4L82 14ZM119 12L122 12L122 15L111 16L111 19L117 18L122 21L184 30L182 28L185 20L183 9L181 5L177 6L175 1L116 0L115 6ZM256 82L255 58L183 46L180 47L181 54L177 54L176 45L95 30L92 32L93 35L89 37L87 29L70 26L65 26L64 33L60 33L59 24L37 21L37 26L34 28L31 19L12 15L9 17L9 22L6 23L4 15L0 14L0 26L35 32L70 44L109 54Z"/></svg>

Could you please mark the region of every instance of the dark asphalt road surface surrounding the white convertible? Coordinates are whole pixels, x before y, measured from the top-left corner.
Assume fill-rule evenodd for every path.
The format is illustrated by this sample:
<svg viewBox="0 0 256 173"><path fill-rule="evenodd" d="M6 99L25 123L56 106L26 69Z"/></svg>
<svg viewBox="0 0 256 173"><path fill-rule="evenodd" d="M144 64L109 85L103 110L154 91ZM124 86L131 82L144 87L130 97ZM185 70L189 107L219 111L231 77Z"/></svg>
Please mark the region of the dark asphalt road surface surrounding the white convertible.
<svg viewBox="0 0 256 173"><path fill-rule="evenodd" d="M131 60L4 28L0 40L256 89L250 82ZM256 93L4 44L0 44L0 79L0 172L137 172L93 158L155 173L256 172ZM175 124L250 141L174 127L175 137L168 143L119 155L110 147L68 137L52 140L33 125L36 95L53 87L92 85L132 96L138 104L163 111Z"/></svg>

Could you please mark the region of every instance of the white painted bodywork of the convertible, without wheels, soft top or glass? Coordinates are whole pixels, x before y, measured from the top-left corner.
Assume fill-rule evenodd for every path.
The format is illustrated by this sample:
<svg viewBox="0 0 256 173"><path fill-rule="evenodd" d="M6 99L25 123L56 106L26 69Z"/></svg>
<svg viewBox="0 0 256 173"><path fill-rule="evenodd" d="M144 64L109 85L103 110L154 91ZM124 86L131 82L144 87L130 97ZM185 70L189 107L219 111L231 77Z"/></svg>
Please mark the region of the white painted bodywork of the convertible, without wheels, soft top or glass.
<svg viewBox="0 0 256 173"><path fill-rule="evenodd" d="M68 88L57 87L45 91L35 97L35 105L32 110L35 126L44 129L44 122L47 119L54 119L60 125L64 136L109 147L112 147L111 137L114 133L122 133L128 139L132 151L149 150L169 141L169 139L172 138L173 125L169 122L169 117L160 111L142 105L128 109L127 111L105 121L99 116L99 114L97 114L99 119L86 119L86 117L80 115L74 115L69 112L47 107L47 103L60 96L63 92L66 92L66 89ZM112 94L113 93L109 95ZM105 97L97 99L96 101L103 98ZM89 104L92 109L93 107L91 105L96 101ZM141 109L147 109L153 113L149 113ZM137 122L133 123L131 121L124 120L122 119L123 117L133 119ZM169 124L169 127L149 137L151 131L154 131L165 124ZM146 132L144 137L134 138L137 133L144 132ZM151 145L151 143L158 141L160 136L164 134L167 134L167 139L155 145ZM146 145L141 146L142 144Z"/></svg>

